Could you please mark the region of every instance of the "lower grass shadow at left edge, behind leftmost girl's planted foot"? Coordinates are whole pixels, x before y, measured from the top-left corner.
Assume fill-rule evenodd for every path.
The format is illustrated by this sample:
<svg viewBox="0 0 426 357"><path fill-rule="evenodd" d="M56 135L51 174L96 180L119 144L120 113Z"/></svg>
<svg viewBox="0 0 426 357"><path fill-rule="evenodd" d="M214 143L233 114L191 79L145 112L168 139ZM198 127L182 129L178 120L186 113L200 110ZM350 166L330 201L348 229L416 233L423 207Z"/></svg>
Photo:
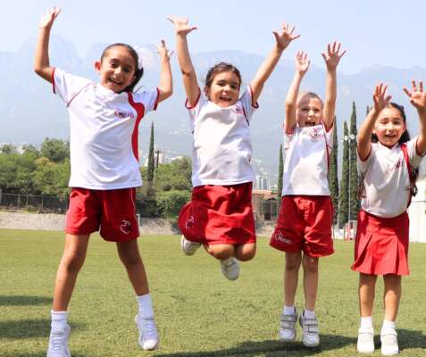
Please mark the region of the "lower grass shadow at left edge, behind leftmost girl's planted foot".
<svg viewBox="0 0 426 357"><path fill-rule="evenodd" d="M85 329L85 326L74 322L72 323L73 331L81 329ZM2 338L13 340L36 337L48 338L49 334L50 319L0 321L0 340Z"/></svg>

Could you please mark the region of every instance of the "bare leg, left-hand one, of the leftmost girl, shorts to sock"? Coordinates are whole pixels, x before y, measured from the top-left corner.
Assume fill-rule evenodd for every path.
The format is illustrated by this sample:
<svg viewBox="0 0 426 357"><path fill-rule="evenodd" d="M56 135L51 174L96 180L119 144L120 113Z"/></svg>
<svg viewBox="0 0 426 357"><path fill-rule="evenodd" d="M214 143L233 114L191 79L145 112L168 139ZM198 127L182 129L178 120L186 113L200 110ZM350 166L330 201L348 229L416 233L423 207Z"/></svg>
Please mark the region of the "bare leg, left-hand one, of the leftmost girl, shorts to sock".
<svg viewBox="0 0 426 357"><path fill-rule="evenodd" d="M54 284L54 311L67 311L79 270L88 251L89 235L66 234L63 257L59 263Z"/></svg>

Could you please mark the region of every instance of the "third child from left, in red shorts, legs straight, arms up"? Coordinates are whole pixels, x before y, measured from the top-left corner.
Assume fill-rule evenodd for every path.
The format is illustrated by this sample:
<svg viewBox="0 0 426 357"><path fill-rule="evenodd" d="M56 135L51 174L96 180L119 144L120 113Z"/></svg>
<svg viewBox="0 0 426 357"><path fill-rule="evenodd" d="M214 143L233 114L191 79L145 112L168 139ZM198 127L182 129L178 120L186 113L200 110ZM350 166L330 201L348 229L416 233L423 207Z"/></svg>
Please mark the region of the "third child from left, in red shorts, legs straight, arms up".
<svg viewBox="0 0 426 357"><path fill-rule="evenodd" d="M296 73L286 97L282 203L271 246L286 253L284 307L280 319L280 340L296 339L295 295L301 263L304 269L305 310L299 323L302 342L320 345L314 308L318 289L319 257L333 253L331 237L332 203L327 179L332 147L337 97L336 69L346 51L334 42L322 54L327 67L325 102L312 93L299 94L309 68L305 52L296 55Z"/></svg>

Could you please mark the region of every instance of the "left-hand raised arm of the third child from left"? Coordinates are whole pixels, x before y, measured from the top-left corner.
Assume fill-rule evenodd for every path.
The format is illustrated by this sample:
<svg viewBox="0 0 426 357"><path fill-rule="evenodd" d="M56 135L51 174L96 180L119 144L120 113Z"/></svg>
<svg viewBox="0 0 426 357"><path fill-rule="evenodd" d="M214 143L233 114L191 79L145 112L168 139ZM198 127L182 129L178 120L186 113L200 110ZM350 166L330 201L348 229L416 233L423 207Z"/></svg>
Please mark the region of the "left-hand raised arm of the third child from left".
<svg viewBox="0 0 426 357"><path fill-rule="evenodd" d="M286 120L284 124L286 133L292 132L293 129L295 129L297 122L297 96L299 95L300 83L302 83L302 79L305 77L305 73L309 69L310 62L311 61L305 52L297 52L295 59L295 76L291 81L286 96Z"/></svg>

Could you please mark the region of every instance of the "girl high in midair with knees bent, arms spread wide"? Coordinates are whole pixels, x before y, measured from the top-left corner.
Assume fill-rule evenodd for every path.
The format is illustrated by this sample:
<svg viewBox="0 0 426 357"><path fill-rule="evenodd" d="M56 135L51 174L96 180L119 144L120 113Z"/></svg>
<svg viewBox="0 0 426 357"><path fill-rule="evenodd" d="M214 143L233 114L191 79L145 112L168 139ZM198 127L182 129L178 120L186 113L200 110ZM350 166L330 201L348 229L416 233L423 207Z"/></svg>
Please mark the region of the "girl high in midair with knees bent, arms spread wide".
<svg viewBox="0 0 426 357"><path fill-rule="evenodd" d="M223 275L235 280L238 261L255 256L255 220L251 203L254 170L250 164L250 120L258 108L263 84L284 49L298 37L283 24L273 32L275 45L250 85L239 97L241 76L236 67L220 62L208 71L203 91L188 51L188 18L170 16L176 29L176 48L187 95L186 107L194 142L192 198L180 212L183 253L192 255L200 245L221 262Z"/></svg>

